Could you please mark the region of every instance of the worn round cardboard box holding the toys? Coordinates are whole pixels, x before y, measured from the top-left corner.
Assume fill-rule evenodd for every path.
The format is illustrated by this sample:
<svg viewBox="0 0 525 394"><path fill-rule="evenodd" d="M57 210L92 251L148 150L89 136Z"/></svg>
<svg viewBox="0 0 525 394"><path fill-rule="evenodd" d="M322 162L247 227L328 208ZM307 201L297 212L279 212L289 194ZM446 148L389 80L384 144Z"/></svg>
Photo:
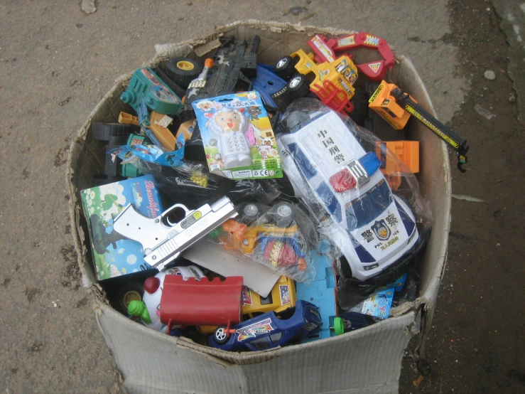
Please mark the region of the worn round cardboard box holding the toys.
<svg viewBox="0 0 525 394"><path fill-rule="evenodd" d="M314 33L352 32L288 23L236 22L217 28L210 36L157 46L158 54L145 66L175 55L186 55L207 43L214 47L212 41L224 33L240 39L259 34L259 61L274 64L298 48L308 50L306 42ZM410 60L401 55L397 60L386 80L403 86L435 115ZM119 112L129 112L119 95L130 78L131 73L117 80L95 107L73 142L68 159L67 182L75 247L84 283L94 292L98 289L87 259L90 246L79 201L79 191L91 186L91 175L97 174L103 163L98 142L90 137L90 124L115 121ZM166 336L129 321L99 297L95 308L97 322L124 378L124 389L129 393L397 393L401 358L412 336L418 335L419 339L416 355L424 350L445 265L450 228L450 165L445 144L419 122L413 122L411 127L405 137L420 141L418 177L423 181L421 186L431 200L433 211L432 235L421 264L420 292L415 302L391 309L391 315L396 317L341 336L270 351L229 353L189 339Z"/></svg>

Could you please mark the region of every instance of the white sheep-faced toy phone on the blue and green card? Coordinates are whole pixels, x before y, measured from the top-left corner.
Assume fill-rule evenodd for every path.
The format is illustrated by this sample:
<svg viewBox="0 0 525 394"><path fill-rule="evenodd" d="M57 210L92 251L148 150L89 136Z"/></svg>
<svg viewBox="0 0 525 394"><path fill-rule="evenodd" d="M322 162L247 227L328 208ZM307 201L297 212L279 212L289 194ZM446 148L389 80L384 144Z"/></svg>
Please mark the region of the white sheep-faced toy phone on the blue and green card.
<svg viewBox="0 0 525 394"><path fill-rule="evenodd" d="M222 159L224 169L251 166L250 147L254 145L254 129L248 117L239 110L223 108L211 115L208 122L210 133L216 138L210 140L220 152L215 159Z"/></svg>

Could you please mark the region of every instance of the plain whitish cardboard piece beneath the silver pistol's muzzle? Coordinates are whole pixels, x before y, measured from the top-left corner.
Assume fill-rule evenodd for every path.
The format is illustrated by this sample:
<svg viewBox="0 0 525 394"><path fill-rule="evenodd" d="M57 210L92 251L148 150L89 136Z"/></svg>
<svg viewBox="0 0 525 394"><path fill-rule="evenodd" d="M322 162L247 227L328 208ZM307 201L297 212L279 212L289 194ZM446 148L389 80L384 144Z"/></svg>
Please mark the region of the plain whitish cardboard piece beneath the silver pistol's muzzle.
<svg viewBox="0 0 525 394"><path fill-rule="evenodd" d="M268 297L280 275L247 257L241 252L227 251L208 240L200 240L183 252L183 257L212 270L223 277L243 277L244 286L261 297Z"/></svg>

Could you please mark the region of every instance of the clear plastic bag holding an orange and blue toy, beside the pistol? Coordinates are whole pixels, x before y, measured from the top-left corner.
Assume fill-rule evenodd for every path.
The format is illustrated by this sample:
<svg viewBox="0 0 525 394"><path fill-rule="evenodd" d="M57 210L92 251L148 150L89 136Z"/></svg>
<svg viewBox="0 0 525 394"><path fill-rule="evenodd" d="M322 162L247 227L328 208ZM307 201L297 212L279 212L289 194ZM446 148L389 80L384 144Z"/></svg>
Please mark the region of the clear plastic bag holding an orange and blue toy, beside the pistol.
<svg viewBox="0 0 525 394"><path fill-rule="evenodd" d="M297 282L315 277L310 252L318 244L315 225L301 208L287 201L272 206L242 203L239 215L227 220L212 242L251 258Z"/></svg>

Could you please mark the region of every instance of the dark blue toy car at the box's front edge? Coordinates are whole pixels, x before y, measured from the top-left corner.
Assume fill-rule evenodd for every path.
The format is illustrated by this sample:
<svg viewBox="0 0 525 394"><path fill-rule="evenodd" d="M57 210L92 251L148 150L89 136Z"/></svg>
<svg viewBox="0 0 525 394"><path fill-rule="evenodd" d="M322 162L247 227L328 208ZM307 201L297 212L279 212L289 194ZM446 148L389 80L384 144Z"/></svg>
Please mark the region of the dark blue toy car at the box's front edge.
<svg viewBox="0 0 525 394"><path fill-rule="evenodd" d="M234 325L231 330L218 326L208 344L227 351L258 351L298 344L306 336L320 331L322 326L318 307L298 301L295 308L261 314Z"/></svg>

